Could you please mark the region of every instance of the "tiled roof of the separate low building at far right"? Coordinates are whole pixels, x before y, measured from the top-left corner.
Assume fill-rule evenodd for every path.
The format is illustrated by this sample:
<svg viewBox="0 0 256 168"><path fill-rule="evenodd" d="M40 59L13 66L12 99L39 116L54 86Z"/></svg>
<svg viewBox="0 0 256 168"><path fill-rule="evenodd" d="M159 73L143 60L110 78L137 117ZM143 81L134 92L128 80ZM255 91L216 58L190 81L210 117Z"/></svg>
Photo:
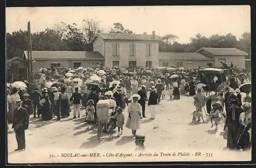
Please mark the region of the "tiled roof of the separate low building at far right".
<svg viewBox="0 0 256 168"><path fill-rule="evenodd" d="M241 51L237 48L208 48L202 47L197 52L201 50L206 50L214 55L248 55L248 53Z"/></svg>

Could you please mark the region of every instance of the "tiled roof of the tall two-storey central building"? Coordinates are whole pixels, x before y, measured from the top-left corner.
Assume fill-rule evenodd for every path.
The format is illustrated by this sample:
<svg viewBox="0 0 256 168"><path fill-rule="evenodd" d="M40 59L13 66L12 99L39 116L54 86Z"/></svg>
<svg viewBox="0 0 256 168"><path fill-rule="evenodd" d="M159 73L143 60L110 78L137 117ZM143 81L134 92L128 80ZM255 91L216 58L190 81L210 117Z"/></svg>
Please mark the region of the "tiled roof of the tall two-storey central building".
<svg viewBox="0 0 256 168"><path fill-rule="evenodd" d="M100 33L100 34L97 34L95 37L97 36L102 38L103 40L162 41L157 37L153 37L153 35Z"/></svg>

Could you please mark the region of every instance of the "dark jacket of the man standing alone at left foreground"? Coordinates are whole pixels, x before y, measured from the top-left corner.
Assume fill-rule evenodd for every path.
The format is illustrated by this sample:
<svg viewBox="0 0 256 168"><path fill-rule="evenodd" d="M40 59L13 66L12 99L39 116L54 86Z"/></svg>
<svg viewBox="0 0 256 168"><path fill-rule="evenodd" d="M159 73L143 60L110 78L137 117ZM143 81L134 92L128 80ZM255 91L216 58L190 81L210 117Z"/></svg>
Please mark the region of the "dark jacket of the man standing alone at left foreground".
<svg viewBox="0 0 256 168"><path fill-rule="evenodd" d="M17 124L22 124L18 127L18 129L28 129L29 127L29 115L27 109L24 107L20 107L19 109L15 108L13 111L13 124L12 128L14 128Z"/></svg>

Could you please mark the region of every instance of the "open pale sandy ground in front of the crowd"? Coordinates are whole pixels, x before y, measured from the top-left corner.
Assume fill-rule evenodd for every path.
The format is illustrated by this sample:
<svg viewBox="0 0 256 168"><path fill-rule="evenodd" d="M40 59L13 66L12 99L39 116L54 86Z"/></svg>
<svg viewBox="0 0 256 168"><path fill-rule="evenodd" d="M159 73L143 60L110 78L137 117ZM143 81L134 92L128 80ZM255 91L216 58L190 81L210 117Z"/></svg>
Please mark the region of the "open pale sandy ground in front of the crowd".
<svg viewBox="0 0 256 168"><path fill-rule="evenodd" d="M210 122L191 123L195 106L193 98L181 96L180 100L162 100L156 107L156 119L150 120L148 106L146 106L146 119L141 121L138 134L145 134L144 153L172 153L189 152L190 156L184 157L103 157L100 158L63 158L62 153L72 152L101 152L120 153L134 152L136 149L132 131L124 127L123 135L114 137L109 141L105 136L98 141L97 125L87 130L84 123L85 110L81 110L81 118L69 118L56 121L40 121L39 118L30 119L26 130L26 150L14 152L17 143L14 133L8 133L8 162L9 163L42 163L42 162L115 162L115 161L228 161L251 160L251 151L235 152L223 149L226 140L223 138L223 125L218 131L211 128ZM127 119L126 109L123 111ZM9 125L11 128L11 125ZM116 128L117 130L117 128ZM196 157L195 152L204 153L204 157ZM212 157L206 157L212 153ZM194 155L192 155L194 154ZM54 158L50 158L53 155Z"/></svg>

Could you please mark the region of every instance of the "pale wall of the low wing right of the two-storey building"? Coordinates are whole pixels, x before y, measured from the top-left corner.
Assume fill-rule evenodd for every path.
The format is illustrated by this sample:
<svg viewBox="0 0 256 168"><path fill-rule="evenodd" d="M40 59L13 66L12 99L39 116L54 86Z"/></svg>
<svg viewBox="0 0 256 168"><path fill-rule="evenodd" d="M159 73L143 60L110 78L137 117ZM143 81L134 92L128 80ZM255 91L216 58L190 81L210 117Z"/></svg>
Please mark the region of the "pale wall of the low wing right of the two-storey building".
<svg viewBox="0 0 256 168"><path fill-rule="evenodd" d="M168 63L168 67L176 66L177 62L183 63L184 69L195 69L200 67L207 67L207 64L215 66L214 60L170 60L170 59L159 59L159 67L163 66L163 62Z"/></svg>

